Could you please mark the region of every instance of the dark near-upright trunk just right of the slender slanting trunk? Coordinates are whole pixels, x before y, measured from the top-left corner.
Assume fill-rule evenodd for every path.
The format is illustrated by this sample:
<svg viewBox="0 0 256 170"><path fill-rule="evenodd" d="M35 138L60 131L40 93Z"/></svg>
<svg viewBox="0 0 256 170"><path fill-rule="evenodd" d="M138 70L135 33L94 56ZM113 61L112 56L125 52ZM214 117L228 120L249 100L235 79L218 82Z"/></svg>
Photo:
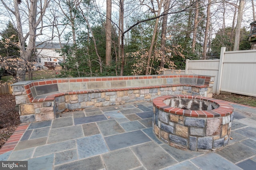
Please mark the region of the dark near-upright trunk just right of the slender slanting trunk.
<svg viewBox="0 0 256 170"><path fill-rule="evenodd" d="M160 67L161 68L164 68L164 58L165 58L165 44L166 44L166 26L167 26L167 19L168 19L168 10L170 8L170 3L171 3L171 0L166 0L165 3L164 3L164 14L166 14L165 16L163 16L163 19L162 19L162 32L161 32L161 48L160 48L160 51L161 51L161 55L162 55L162 59L160 61Z"/></svg>

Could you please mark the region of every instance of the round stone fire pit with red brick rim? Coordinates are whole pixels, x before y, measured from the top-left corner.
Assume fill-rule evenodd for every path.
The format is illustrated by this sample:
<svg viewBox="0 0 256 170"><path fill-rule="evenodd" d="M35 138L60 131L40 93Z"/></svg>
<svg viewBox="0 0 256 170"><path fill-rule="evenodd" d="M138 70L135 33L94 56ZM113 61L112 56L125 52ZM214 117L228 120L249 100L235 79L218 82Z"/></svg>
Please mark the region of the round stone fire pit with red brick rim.
<svg viewBox="0 0 256 170"><path fill-rule="evenodd" d="M162 96L153 100L156 136L172 147L208 151L230 139L233 107L201 96Z"/></svg>

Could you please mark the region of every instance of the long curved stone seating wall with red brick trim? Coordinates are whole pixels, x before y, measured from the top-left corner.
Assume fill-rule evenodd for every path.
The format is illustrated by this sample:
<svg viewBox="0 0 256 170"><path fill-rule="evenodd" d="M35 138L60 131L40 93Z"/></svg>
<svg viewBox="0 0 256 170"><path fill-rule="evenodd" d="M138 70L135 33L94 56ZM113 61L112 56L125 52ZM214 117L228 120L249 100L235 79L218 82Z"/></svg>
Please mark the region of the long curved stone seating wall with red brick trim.
<svg viewBox="0 0 256 170"><path fill-rule="evenodd" d="M64 109L150 101L167 94L212 97L214 77L198 75L57 78L12 84L22 123L54 119Z"/></svg>

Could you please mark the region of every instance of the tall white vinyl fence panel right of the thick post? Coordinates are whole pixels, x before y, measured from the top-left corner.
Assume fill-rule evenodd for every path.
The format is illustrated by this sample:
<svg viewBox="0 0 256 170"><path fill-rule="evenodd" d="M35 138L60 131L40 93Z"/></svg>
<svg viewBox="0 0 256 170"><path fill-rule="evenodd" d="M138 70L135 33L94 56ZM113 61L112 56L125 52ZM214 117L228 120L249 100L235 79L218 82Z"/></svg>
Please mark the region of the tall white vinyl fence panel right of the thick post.
<svg viewBox="0 0 256 170"><path fill-rule="evenodd" d="M256 50L224 52L220 91L256 96Z"/></svg>

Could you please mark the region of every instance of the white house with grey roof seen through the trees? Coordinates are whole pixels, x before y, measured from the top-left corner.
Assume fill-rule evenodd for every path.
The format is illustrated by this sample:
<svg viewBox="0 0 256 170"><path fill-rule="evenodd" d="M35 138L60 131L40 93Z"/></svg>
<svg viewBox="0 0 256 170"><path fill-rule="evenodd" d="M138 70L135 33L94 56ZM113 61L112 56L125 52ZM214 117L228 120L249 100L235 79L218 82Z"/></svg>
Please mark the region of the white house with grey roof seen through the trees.
<svg viewBox="0 0 256 170"><path fill-rule="evenodd" d="M61 44L62 46L66 45L65 43ZM55 66L60 65L63 61L63 57L60 56L60 53L57 53L57 50L60 50L60 43L54 42L36 42L36 68L44 69L45 66L49 70L54 70Z"/></svg>

